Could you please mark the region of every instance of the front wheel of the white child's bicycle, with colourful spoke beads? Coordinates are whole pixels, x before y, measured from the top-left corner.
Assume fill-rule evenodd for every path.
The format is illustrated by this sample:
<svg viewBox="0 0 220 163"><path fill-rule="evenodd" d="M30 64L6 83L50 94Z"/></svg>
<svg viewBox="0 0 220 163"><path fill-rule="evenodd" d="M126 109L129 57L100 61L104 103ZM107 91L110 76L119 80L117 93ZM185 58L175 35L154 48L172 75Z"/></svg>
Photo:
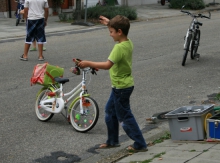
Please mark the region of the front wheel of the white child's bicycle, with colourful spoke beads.
<svg viewBox="0 0 220 163"><path fill-rule="evenodd" d="M78 99L70 112L70 122L78 132L87 132L97 123L99 118L99 108L94 99L83 97L83 114L80 113L80 99Z"/></svg>

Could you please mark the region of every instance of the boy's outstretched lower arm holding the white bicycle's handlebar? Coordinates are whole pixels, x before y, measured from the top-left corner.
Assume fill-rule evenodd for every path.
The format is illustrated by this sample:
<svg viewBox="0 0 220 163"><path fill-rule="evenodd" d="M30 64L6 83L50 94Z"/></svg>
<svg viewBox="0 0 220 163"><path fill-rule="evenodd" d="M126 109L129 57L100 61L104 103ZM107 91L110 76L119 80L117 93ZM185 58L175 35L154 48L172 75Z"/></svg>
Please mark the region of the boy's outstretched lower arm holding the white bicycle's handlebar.
<svg viewBox="0 0 220 163"><path fill-rule="evenodd" d="M92 62L92 61L81 61L78 63L78 66L81 68L91 67L91 68L99 68L104 70L109 70L114 63L107 60L106 62Z"/></svg>

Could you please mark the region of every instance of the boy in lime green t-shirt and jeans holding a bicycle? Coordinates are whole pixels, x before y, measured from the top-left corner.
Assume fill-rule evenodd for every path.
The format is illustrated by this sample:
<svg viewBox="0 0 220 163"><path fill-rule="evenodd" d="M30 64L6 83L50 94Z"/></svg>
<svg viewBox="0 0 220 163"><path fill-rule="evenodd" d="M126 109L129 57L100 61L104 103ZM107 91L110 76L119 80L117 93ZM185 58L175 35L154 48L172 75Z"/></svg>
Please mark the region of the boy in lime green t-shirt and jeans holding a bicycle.
<svg viewBox="0 0 220 163"><path fill-rule="evenodd" d="M92 67L109 69L112 92L105 107L105 122L108 138L99 149L118 147L119 123L126 134L134 140L134 144L127 147L128 151L147 151L147 145L139 126L130 109L130 95L134 89L134 81L131 74L133 43L127 38L130 23L128 18L117 15L111 20L100 16L100 22L107 25L110 36L117 41L106 62L81 61L81 68Z"/></svg>

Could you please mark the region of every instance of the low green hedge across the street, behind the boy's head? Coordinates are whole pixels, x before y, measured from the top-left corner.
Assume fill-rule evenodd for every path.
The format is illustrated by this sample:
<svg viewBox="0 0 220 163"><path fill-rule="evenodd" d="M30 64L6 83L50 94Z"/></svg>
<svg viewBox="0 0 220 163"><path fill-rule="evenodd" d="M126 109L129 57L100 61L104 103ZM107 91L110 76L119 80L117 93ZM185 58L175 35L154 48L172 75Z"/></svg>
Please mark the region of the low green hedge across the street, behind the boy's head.
<svg viewBox="0 0 220 163"><path fill-rule="evenodd" d="M99 16L105 16L109 19L116 15L126 16L129 20L137 19L137 12L135 9L126 6L94 6L87 8L88 19L98 19ZM85 17L85 11L82 10L82 19Z"/></svg>

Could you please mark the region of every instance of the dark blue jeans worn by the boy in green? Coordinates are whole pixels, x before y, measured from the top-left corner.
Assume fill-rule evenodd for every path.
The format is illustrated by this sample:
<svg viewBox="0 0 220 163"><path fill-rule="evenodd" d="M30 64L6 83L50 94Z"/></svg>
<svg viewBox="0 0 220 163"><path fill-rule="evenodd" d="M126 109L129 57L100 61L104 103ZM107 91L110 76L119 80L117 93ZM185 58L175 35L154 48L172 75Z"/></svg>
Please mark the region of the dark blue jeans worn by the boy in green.
<svg viewBox="0 0 220 163"><path fill-rule="evenodd" d="M105 123L108 130L109 145L119 144L119 123L126 134L134 140L134 148L146 148L146 142L130 109L130 96L134 87L125 89L112 88L111 95L105 107Z"/></svg>

